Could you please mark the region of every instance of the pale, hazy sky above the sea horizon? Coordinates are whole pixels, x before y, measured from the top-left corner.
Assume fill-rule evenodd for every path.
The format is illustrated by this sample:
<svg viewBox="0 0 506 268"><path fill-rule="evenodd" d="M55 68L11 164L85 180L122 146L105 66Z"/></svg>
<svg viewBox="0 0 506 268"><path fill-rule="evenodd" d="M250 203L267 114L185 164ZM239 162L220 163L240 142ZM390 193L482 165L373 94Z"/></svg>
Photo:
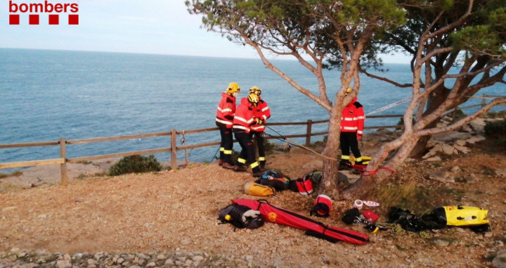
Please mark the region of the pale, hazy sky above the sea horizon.
<svg viewBox="0 0 506 268"><path fill-rule="evenodd" d="M190 15L184 0L46 0L51 4L79 4L79 25L29 25L27 13L20 25L9 25L13 4L44 3L43 0L1 0L0 48L57 49L153 53L227 58L259 58L249 46L229 42L201 27L200 15ZM44 17L45 16L45 17ZM385 56L386 63L409 63L406 56Z"/></svg>

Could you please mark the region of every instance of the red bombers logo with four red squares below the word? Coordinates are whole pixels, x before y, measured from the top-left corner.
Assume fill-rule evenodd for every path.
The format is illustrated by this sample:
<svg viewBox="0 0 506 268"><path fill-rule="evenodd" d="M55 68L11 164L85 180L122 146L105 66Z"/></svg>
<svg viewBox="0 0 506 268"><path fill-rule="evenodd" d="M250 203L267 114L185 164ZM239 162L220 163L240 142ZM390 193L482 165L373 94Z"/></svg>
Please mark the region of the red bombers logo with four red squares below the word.
<svg viewBox="0 0 506 268"><path fill-rule="evenodd" d="M61 3L46 0L44 2L27 3L25 1L10 0L9 24L10 25L24 24L20 23L21 17L21 18L28 18L28 24L30 25L39 25L40 17L41 16L45 17L47 15L48 25L59 25L60 15L64 16L63 13L66 13L65 15L68 18L68 24L78 25L79 14L77 14L77 11L79 11L79 4L74 2ZM25 14L27 14L27 16Z"/></svg>

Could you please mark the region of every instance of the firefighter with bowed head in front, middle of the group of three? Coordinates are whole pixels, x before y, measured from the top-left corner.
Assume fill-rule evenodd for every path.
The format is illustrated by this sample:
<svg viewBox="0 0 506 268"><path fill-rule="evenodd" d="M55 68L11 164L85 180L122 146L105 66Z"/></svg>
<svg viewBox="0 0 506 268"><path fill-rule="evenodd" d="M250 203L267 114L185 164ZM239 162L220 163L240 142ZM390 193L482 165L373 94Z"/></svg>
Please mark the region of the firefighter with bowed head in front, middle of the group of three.
<svg viewBox="0 0 506 268"><path fill-rule="evenodd" d="M242 148L235 171L246 171L245 164L247 161L249 162L249 167L252 169L253 177L261 177L264 174L260 170L259 162L255 160L253 141L251 136L249 136L251 126L258 121L253 115L253 110L257 107L258 103L259 98L256 94L249 94L249 96L242 98L237 110L235 110L233 119L234 136Z"/></svg>

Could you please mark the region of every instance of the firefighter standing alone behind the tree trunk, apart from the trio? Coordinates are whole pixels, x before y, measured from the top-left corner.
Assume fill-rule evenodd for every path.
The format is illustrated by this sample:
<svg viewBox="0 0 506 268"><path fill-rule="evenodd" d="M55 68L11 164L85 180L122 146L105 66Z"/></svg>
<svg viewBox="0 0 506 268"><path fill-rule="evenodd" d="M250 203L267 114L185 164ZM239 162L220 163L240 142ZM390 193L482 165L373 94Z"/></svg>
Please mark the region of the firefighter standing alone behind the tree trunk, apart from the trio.
<svg viewBox="0 0 506 268"><path fill-rule="evenodd" d="M346 89L346 96L353 89ZM362 165L362 155L358 150L358 141L362 140L365 115L357 98L348 103L341 117L341 167L351 167L350 148L355 157L355 165Z"/></svg>

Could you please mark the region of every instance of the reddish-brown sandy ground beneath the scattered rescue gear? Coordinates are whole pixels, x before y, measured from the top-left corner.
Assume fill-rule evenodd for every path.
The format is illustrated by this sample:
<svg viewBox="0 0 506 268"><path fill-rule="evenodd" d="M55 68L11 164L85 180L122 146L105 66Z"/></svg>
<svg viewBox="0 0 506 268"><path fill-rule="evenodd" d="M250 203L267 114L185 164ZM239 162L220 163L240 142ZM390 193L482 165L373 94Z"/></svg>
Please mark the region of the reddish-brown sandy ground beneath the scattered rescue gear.
<svg viewBox="0 0 506 268"><path fill-rule="evenodd" d="M244 184L254 179L249 173L223 170L214 162L152 174L81 177L71 179L68 186L4 189L0 193L0 252L11 248L69 254L179 249L249 255L253 267L490 267L491 256L504 249L506 241L506 178L493 172L506 167L506 152L487 143L472 150L441 162L406 162L388 185L412 185L426 193L429 200L418 199L413 208L406 208L414 212L430 205L486 208L492 227L486 234L462 228L429 232L427 238L391 231L370 234L363 226L341 221L353 203L342 200L333 201L330 217L314 219L369 234L370 243L330 243L271 223L234 231L230 224L219 224L218 212L233 198L257 199L243 192ZM317 155L301 149L268 158L271 170L292 179L318 163ZM434 170L453 170L462 179L453 184L427 179ZM309 217L314 198L284 191L268 200ZM397 205L387 199L381 193L370 196L382 203L371 208L380 215L380 222L387 221L389 205Z"/></svg>

